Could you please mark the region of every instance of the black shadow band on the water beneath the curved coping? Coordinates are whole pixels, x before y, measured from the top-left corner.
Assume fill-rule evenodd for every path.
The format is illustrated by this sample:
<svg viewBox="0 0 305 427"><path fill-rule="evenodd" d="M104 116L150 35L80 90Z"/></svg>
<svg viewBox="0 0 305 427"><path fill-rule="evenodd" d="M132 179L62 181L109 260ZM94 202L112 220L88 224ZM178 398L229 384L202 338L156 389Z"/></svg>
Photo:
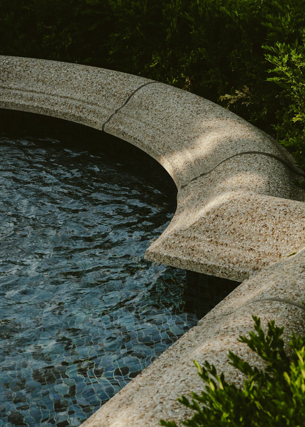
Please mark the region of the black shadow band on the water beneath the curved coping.
<svg viewBox="0 0 305 427"><path fill-rule="evenodd" d="M126 163L127 161L130 168L135 173L144 174L147 181L153 182L157 173L158 189L164 190L167 196L170 195L173 203L176 203L177 188L167 171L143 150L120 138L69 120L5 108L0 108L0 123L2 132L12 132L16 127L19 135L22 129L24 136L29 135L36 140L41 138L43 144L46 131L50 140L61 140L65 135L63 144L66 149L81 151L85 148L89 155L100 153L111 158L115 157L117 162Z"/></svg>

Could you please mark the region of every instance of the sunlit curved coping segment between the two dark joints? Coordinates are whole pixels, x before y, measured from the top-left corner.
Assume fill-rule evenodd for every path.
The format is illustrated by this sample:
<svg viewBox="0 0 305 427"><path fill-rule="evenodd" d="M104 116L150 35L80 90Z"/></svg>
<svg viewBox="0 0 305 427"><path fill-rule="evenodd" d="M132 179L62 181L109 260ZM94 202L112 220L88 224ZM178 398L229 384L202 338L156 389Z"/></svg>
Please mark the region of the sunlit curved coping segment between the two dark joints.
<svg viewBox="0 0 305 427"><path fill-rule="evenodd" d="M241 152L274 155L298 170L269 135L207 99L165 84L138 91L105 130L142 149L144 145L178 188Z"/></svg>

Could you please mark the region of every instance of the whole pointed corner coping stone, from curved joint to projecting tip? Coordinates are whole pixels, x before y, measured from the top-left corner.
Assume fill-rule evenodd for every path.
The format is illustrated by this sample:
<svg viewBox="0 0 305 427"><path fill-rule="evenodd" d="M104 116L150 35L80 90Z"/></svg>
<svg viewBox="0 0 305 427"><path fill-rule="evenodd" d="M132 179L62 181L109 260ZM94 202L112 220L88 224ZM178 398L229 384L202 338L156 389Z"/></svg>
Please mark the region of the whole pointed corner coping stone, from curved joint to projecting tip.
<svg viewBox="0 0 305 427"><path fill-rule="evenodd" d="M285 173L290 177L282 182ZM305 244L305 191L295 179L273 158L229 159L179 190L176 213L147 258L237 281L248 278Z"/></svg>

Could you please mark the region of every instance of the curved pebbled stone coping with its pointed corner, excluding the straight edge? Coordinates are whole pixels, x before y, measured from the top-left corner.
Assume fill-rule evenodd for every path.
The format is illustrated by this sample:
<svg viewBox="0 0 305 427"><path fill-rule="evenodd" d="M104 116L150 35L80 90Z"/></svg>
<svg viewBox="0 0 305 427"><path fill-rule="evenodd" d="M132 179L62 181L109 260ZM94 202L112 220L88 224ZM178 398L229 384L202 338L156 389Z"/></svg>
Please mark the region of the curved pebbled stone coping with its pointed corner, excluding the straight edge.
<svg viewBox="0 0 305 427"><path fill-rule="evenodd" d="M158 160L177 211L148 260L242 281L305 245L304 173L271 137L206 99L85 65L1 56L0 107L103 129Z"/></svg>

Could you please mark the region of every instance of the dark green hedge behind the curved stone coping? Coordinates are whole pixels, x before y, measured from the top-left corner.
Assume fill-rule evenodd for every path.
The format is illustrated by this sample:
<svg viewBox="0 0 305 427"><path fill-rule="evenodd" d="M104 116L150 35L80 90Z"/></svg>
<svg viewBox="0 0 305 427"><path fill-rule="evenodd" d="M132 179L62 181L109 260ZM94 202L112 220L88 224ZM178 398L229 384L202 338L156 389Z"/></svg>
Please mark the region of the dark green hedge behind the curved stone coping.
<svg viewBox="0 0 305 427"><path fill-rule="evenodd" d="M0 54L175 85L270 133L305 168L305 0L1 0Z"/></svg>

